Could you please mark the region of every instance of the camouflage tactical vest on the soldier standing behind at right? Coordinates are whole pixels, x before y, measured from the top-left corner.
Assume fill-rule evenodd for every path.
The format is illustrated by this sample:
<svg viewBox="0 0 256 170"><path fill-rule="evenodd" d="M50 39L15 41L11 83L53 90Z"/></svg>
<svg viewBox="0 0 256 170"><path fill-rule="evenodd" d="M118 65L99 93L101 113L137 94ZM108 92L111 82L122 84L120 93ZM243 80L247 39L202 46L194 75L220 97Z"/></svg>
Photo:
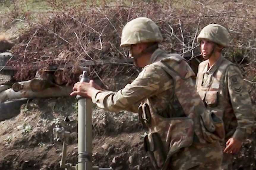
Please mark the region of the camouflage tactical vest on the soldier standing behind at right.
<svg viewBox="0 0 256 170"><path fill-rule="evenodd" d="M225 123L225 120L229 119L225 119L225 115L234 114L230 99L228 98L227 85L225 83L227 68L233 63L223 58L217 66L216 71L208 75L208 81L204 79L204 76L207 73L203 73L207 64L208 61L203 61L198 67L196 90L202 101L205 103L206 108L209 111L214 112ZM237 124L234 126L236 127ZM230 132L231 129L228 128L229 127L225 127L225 132ZM226 134L225 138L233 135L233 131L230 133L231 134Z"/></svg>

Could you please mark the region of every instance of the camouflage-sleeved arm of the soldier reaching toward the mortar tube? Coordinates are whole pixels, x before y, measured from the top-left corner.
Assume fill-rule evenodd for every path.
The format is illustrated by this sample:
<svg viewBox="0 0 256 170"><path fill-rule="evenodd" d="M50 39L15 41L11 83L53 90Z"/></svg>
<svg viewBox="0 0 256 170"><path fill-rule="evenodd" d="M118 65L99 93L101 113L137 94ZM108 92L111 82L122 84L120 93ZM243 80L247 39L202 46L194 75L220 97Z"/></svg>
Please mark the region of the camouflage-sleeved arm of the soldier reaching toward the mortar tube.
<svg viewBox="0 0 256 170"><path fill-rule="evenodd" d="M138 77L123 89L94 90L92 101L109 111L127 110L137 113L141 101L173 87L173 80L159 66L146 66Z"/></svg>

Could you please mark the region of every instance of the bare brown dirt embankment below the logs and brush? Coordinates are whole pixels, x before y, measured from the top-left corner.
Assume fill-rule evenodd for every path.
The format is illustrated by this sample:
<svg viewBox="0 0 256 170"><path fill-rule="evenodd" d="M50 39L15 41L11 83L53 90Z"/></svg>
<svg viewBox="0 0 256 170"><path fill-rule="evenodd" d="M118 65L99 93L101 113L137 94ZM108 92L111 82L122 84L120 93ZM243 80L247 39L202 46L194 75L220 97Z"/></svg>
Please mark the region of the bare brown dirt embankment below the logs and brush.
<svg viewBox="0 0 256 170"><path fill-rule="evenodd" d="M67 163L77 163L77 112L73 98L33 100L21 114L0 122L0 169L60 170L62 143L56 142L54 127L70 131ZM67 119L68 116L68 119ZM137 114L93 111L94 166L119 170L153 170L143 149L144 131ZM235 155L234 169L255 168L255 133Z"/></svg>

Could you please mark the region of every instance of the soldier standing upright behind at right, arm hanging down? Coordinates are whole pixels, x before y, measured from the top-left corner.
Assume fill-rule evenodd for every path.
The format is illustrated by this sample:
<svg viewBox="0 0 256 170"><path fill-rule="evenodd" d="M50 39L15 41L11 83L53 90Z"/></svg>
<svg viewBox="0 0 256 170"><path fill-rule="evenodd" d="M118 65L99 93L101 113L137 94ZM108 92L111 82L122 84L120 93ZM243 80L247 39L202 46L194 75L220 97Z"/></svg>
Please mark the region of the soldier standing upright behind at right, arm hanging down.
<svg viewBox="0 0 256 170"><path fill-rule="evenodd" d="M196 89L207 109L222 118L225 125L222 169L232 169L233 153L252 132L254 121L243 76L221 53L229 37L227 29L218 24L207 25L197 37L206 61L198 66Z"/></svg>

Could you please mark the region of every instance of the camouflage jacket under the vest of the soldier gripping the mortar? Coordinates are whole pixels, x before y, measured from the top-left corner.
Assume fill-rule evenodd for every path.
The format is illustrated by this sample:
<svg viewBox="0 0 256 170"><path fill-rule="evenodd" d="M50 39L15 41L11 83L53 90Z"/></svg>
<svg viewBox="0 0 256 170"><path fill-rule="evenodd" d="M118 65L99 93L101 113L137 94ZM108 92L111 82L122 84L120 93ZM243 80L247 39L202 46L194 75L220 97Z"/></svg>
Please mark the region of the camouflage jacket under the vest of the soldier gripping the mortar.
<svg viewBox="0 0 256 170"><path fill-rule="evenodd" d="M137 113L140 102L150 98L156 112L163 113L170 103L169 98L174 84L165 70L153 64L164 58L156 55L158 51L162 50L158 49L152 54L150 63L131 84L117 92L95 90L92 96L93 103L109 111L127 110Z"/></svg>

